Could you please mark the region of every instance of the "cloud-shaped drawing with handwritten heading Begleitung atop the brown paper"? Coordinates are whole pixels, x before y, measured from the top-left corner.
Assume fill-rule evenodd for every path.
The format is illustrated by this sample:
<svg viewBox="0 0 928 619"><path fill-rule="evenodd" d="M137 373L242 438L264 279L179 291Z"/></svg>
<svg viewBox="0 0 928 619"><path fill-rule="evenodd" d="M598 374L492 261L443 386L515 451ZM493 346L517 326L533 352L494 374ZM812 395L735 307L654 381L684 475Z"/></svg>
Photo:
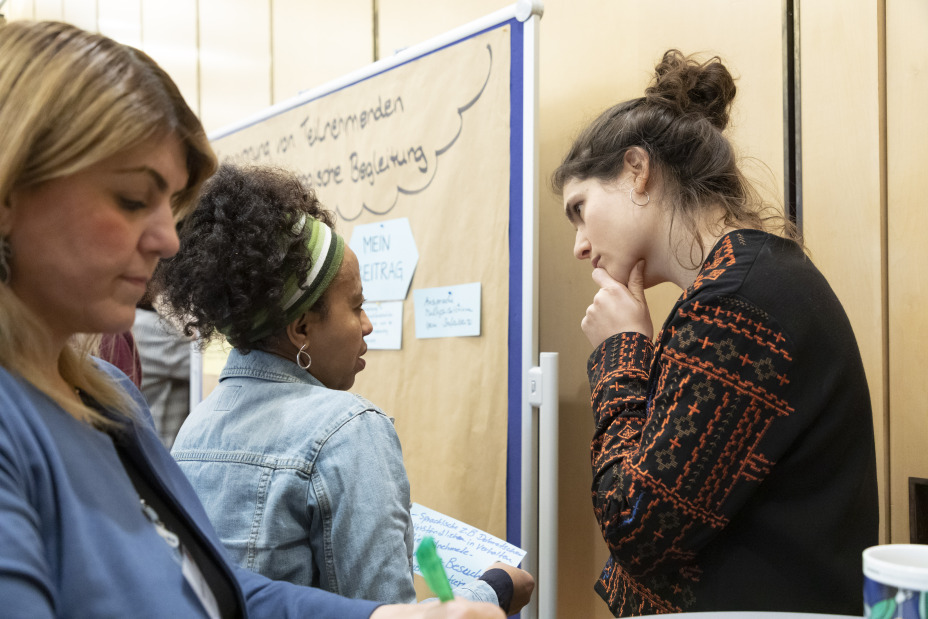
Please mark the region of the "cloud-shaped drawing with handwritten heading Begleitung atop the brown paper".
<svg viewBox="0 0 928 619"><path fill-rule="evenodd" d="M283 102L215 138L213 146L222 161L293 170L342 221L386 215L400 196L432 185L442 157L461 142L465 122L478 132L470 137L487 127L500 130L498 103L488 103L489 116L473 109L483 98L508 96L506 63L495 66L493 53L494 45L508 44L504 34L465 39L350 85Z"/></svg>

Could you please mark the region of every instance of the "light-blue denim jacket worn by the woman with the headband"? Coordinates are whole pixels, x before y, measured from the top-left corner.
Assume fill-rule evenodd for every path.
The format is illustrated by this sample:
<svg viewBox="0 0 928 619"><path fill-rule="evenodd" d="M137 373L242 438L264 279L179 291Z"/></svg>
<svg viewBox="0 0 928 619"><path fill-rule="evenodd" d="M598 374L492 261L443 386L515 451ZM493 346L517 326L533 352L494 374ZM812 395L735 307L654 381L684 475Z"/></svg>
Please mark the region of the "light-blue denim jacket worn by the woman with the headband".
<svg viewBox="0 0 928 619"><path fill-rule="evenodd" d="M409 479L393 421L295 362L233 350L172 455L232 559L351 598L415 602ZM497 603L476 581L458 597Z"/></svg>

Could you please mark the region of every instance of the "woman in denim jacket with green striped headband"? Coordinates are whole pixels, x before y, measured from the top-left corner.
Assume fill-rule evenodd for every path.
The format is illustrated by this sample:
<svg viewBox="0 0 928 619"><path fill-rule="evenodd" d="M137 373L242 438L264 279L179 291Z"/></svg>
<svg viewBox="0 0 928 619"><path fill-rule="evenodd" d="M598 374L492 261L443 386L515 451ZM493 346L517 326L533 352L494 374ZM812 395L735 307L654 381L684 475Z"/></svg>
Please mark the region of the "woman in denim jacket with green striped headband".
<svg viewBox="0 0 928 619"><path fill-rule="evenodd" d="M358 259L292 174L223 165L157 294L234 347L172 455L233 559L353 598L414 602L409 481L392 420L348 393L364 369ZM531 576L495 564L459 597L515 613Z"/></svg>

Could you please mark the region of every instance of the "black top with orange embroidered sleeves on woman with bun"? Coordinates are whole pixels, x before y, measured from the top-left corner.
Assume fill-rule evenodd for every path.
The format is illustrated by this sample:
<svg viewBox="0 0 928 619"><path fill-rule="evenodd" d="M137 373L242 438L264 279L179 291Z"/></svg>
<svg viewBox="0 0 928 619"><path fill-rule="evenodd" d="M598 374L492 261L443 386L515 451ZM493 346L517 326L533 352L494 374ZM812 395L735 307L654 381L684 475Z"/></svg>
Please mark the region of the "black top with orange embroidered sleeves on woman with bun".
<svg viewBox="0 0 928 619"><path fill-rule="evenodd" d="M593 506L616 616L705 610L859 615L878 540L860 352L794 242L722 237L656 342L590 357Z"/></svg>

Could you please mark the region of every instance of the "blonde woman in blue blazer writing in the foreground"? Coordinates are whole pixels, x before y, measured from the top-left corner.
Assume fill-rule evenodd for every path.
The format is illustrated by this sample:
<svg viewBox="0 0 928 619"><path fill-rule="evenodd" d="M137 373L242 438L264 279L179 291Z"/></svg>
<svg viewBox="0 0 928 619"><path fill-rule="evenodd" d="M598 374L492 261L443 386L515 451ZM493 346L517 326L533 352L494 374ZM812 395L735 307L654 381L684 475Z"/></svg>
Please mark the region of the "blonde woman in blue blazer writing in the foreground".
<svg viewBox="0 0 928 619"><path fill-rule="evenodd" d="M378 608L233 567L138 390L75 345L131 327L215 168L150 58L66 24L0 26L0 143L4 616L502 616Z"/></svg>

